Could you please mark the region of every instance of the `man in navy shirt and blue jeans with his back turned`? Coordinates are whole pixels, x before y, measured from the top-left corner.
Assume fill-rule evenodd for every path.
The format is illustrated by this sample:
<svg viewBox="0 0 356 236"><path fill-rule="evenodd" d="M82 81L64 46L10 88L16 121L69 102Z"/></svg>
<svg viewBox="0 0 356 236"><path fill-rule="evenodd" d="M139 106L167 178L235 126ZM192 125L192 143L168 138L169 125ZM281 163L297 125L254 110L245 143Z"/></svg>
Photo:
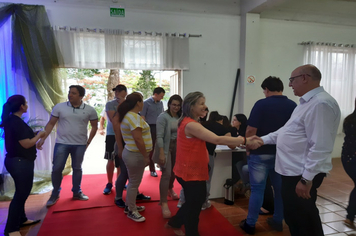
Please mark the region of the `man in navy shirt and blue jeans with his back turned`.
<svg viewBox="0 0 356 236"><path fill-rule="evenodd" d="M281 128L290 118L295 102L283 96L283 82L273 76L266 78L261 87L266 98L257 101L248 119L246 137L263 136ZM240 227L248 234L255 233L255 224L263 203L266 180L269 176L274 190L274 214L267 223L275 230L283 230L283 202L281 196L281 176L275 172L276 145L264 145L250 151L248 170L250 175L251 196L247 219Z"/></svg>

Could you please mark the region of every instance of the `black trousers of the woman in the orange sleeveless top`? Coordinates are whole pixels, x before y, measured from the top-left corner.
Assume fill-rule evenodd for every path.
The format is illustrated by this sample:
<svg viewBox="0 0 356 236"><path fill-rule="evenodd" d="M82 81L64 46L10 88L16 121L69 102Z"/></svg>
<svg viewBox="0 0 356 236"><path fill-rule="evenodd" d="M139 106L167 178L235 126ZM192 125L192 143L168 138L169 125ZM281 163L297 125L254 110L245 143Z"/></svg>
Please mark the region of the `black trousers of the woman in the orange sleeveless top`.
<svg viewBox="0 0 356 236"><path fill-rule="evenodd" d="M185 203L168 224L173 228L184 225L187 236L199 236L199 215L206 198L206 181L184 181L180 177L177 180L184 189Z"/></svg>

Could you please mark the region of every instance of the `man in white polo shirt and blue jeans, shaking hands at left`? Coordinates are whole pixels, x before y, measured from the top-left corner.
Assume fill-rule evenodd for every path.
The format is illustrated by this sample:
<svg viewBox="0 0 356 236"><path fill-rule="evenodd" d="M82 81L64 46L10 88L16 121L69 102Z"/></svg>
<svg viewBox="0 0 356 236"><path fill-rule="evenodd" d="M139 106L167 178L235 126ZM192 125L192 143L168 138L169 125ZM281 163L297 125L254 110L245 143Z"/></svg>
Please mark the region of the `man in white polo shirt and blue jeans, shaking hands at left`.
<svg viewBox="0 0 356 236"><path fill-rule="evenodd" d="M58 122L57 139L53 152L53 191L47 202L47 207L54 205L59 199L62 171L69 154L72 158L73 169L73 199L83 201L89 199L88 196L83 194L80 188L82 181L82 162L85 150L94 138L98 129L98 115L93 107L82 101L84 95L85 89L82 86L70 86L68 102L59 103L54 106L51 118L45 127L48 136ZM88 138L89 121L92 129ZM41 148L47 136L37 143L38 148Z"/></svg>

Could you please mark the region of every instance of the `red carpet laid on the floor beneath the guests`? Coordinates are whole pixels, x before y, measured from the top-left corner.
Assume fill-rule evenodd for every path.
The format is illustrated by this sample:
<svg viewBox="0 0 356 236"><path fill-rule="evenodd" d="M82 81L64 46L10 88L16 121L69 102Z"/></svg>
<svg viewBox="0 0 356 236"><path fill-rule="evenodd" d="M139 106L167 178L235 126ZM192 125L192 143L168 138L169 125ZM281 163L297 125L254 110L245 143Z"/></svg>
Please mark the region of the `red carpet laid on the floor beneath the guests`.
<svg viewBox="0 0 356 236"><path fill-rule="evenodd" d="M173 236L171 229L164 228L166 219L162 218L158 202L141 202L146 210L141 212L146 221L136 223L123 213L123 209L113 204L115 193L102 194L105 187L105 175L83 176L82 188L89 201L71 200L71 176L63 179L61 198L56 205L49 208L38 236ZM140 190L154 199L158 196L159 178L145 175ZM179 192L180 185L175 184ZM158 198L157 198L158 199ZM177 201L168 201L174 215L178 210ZM199 232L201 236L219 236L240 234L213 206L200 214Z"/></svg>

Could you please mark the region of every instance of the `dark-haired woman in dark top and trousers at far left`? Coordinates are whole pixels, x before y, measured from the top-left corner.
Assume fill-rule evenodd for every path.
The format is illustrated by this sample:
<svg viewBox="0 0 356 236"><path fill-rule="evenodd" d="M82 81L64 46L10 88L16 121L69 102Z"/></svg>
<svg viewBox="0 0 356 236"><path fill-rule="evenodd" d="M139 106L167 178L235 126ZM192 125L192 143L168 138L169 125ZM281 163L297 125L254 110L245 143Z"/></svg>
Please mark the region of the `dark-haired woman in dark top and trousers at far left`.
<svg viewBox="0 0 356 236"><path fill-rule="evenodd" d="M5 134L5 167L14 179L15 194L9 206L5 235L21 236L20 227L33 225L40 220L29 220L25 214L25 202L33 183L33 168L36 159L36 142L45 132L36 135L22 120L27 112L27 101L22 95L13 95L3 106L0 128Z"/></svg>

